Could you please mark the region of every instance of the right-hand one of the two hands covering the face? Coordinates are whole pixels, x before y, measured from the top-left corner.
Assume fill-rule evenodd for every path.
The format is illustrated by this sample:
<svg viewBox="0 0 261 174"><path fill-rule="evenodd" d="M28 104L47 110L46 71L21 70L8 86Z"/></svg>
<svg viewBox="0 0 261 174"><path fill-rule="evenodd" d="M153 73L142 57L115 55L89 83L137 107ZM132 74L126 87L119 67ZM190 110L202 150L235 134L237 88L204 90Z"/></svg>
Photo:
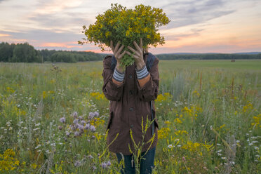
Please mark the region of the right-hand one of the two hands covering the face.
<svg viewBox="0 0 261 174"><path fill-rule="evenodd" d="M133 44L134 44L136 50L131 48L131 46L128 46L128 49L133 51L134 55L132 55L128 51L126 53L128 55L133 56L137 69L142 69L142 67L145 65L145 62L143 60L142 39L140 38L140 46L138 46L138 44L135 41L133 41Z"/></svg>

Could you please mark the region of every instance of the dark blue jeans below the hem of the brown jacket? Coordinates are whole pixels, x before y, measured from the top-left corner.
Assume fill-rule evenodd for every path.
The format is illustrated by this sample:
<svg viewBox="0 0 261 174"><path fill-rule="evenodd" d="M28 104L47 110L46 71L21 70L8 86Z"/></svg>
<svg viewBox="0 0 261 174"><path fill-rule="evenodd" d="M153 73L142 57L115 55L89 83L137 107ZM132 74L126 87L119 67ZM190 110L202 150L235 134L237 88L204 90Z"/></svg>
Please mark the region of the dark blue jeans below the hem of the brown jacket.
<svg viewBox="0 0 261 174"><path fill-rule="evenodd" d="M140 161L140 174L149 174L152 173L152 168L154 168L154 157L155 157L155 151L156 147L149 149L147 154L145 152L142 152L141 156L143 156L142 160ZM118 162L121 161L122 156L119 153L116 153L116 156L118 158ZM134 160L133 155L123 155L124 156L124 168L121 168L121 173L125 174L135 174L135 163L133 162L133 166L131 165L131 159Z"/></svg>

